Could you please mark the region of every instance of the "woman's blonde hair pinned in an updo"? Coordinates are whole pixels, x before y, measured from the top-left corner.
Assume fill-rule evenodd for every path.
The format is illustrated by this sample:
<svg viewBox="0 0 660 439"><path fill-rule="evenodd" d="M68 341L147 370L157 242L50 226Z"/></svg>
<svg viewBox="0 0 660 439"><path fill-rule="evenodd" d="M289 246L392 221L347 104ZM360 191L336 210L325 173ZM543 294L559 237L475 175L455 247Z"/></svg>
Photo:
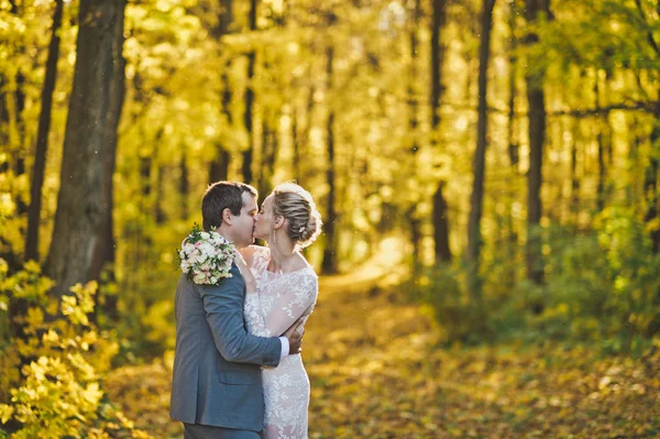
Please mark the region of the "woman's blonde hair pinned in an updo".
<svg viewBox="0 0 660 439"><path fill-rule="evenodd" d="M288 220L286 233L301 248L310 245L321 233L323 222L311 194L295 183L283 183L273 189L273 213Z"/></svg>

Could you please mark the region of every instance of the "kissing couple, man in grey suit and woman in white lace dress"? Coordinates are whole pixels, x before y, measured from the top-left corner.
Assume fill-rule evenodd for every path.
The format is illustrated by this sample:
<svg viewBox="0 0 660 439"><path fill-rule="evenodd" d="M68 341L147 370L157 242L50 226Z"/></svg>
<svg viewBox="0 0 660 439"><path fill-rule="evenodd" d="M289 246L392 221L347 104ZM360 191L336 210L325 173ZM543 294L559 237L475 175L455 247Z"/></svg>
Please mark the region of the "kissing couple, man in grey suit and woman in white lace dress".
<svg viewBox="0 0 660 439"><path fill-rule="evenodd" d="M275 187L258 210L256 201L238 182L215 183L202 198L206 235L233 245L223 278L178 282L169 415L184 422L185 439L307 438L310 385L299 352L318 277L299 250L322 222L294 183Z"/></svg>

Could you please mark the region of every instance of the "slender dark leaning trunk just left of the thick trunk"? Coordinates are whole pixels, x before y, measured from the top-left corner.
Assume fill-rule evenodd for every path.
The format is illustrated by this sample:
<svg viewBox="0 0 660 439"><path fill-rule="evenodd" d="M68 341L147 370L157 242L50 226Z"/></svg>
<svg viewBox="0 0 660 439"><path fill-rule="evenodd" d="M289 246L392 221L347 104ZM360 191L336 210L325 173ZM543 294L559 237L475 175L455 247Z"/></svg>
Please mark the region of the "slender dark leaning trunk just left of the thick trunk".
<svg viewBox="0 0 660 439"><path fill-rule="evenodd" d="M53 110L53 91L57 79L57 59L59 58L59 29L62 26L62 13L64 0L55 0L53 12L53 26L51 44L48 45L48 58L46 61L46 73L44 87L42 89L42 108L38 117L36 134L36 151L34 153L34 167L32 169L32 182L30 186L30 208L28 210L28 237L25 240L25 261L38 261L38 229L41 219L41 191L44 185L44 172L46 167L46 152L48 150L48 132L51 131L51 112Z"/></svg>

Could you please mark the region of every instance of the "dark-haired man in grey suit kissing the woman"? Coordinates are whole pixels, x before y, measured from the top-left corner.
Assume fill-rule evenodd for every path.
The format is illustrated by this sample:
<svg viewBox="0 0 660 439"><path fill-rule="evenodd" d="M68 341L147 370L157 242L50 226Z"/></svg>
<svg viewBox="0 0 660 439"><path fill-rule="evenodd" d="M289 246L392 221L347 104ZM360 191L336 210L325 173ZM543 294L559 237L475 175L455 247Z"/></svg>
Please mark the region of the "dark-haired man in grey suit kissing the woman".
<svg viewBox="0 0 660 439"><path fill-rule="evenodd" d="M211 185L201 201L204 229L216 227L238 249L253 241L256 190L235 182ZM261 365L300 351L297 325L283 337L248 332L245 282L235 264L220 285L182 275L176 289L176 350L169 415L184 439L257 439L264 426Z"/></svg>

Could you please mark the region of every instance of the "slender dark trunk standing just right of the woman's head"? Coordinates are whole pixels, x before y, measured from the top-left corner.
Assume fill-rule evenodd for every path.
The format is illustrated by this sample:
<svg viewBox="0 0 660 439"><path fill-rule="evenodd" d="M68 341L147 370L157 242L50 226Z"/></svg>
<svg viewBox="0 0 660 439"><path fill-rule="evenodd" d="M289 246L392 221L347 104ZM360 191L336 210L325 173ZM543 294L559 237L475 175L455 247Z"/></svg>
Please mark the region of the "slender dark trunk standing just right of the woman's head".
<svg viewBox="0 0 660 439"><path fill-rule="evenodd" d="M328 29L332 29L334 24L336 17L333 13L329 13L328 15ZM332 43L328 45L326 50L327 56L327 88L328 94L332 92L332 81L333 81L333 62L334 62L334 47ZM328 136L328 169L326 172L326 179L328 182L328 212L326 215L326 220L323 221L323 229L326 234L326 248L323 249L323 262L321 264L321 270L326 274L337 273L339 271L339 259L338 259L338 244L339 239L337 235L337 182L336 182L336 162L334 162L334 109L332 108L332 103L329 105L328 108L328 122L326 125L327 136Z"/></svg>

